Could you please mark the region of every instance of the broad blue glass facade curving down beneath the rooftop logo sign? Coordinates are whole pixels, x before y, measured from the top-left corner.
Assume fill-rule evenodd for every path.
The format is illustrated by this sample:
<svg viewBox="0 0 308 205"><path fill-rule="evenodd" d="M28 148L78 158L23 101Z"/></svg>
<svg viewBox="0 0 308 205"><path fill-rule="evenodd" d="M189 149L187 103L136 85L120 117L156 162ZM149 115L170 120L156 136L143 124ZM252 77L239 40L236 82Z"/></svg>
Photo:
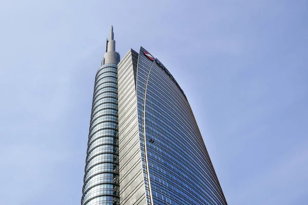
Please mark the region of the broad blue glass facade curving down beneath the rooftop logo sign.
<svg viewBox="0 0 308 205"><path fill-rule="evenodd" d="M148 204L227 204L184 93L143 51L137 100Z"/></svg>

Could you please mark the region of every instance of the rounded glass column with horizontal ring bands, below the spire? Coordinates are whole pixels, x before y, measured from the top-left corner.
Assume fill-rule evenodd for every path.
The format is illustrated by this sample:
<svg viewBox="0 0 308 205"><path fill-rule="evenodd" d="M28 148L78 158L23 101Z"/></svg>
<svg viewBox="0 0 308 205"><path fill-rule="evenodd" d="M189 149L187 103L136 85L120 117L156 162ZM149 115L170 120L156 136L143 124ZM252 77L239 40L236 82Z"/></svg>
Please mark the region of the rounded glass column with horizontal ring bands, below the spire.
<svg viewBox="0 0 308 205"><path fill-rule="evenodd" d="M95 76L82 205L119 204L117 65Z"/></svg>

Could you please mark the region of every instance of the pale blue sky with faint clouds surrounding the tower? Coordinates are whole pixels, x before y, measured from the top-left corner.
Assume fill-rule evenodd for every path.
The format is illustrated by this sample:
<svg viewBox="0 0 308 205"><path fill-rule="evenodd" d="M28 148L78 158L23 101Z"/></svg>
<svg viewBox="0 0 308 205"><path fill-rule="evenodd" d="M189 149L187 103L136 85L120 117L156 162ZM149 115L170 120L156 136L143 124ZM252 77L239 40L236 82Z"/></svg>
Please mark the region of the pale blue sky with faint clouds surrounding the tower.
<svg viewBox="0 0 308 205"><path fill-rule="evenodd" d="M307 20L306 0L1 1L0 203L80 204L113 25L181 85L230 205L307 204Z"/></svg>

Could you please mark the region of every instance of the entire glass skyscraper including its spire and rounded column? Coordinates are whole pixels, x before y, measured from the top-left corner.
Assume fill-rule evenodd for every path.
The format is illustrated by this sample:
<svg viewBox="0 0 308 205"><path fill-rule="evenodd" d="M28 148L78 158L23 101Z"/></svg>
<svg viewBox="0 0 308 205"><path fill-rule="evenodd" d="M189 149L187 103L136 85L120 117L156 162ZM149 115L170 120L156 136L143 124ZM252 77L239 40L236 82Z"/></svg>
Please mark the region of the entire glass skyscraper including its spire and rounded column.
<svg viewBox="0 0 308 205"><path fill-rule="evenodd" d="M82 205L227 204L176 79L113 30L95 77Z"/></svg>

